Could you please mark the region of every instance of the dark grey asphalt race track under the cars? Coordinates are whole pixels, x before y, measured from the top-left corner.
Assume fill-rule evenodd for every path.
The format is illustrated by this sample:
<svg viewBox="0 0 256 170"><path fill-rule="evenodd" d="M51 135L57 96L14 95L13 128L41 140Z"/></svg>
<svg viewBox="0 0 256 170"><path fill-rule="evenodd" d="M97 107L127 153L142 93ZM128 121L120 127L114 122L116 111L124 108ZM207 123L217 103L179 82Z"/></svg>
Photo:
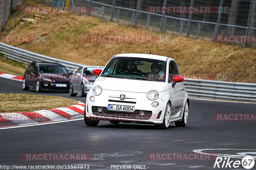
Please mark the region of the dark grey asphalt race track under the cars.
<svg viewBox="0 0 256 170"><path fill-rule="evenodd" d="M69 97L68 93L23 91L20 81L0 78L0 93L4 92ZM85 98L82 97L71 98L85 102ZM131 169L134 165L141 165L141 168L137 167L137 169L143 169L145 166L145 169L149 170L235 169L214 168L216 158L198 160L195 157L196 160L187 160L182 157L182 160L170 160L170 158L166 160L166 157L163 157L164 160L152 160L156 157L151 158L148 155L150 153L151 155L157 155L152 153L188 155L189 153L195 154L197 149L208 149L202 152L237 156L243 152L242 154L256 156L255 121L217 121L213 118L214 114L255 114L255 110L256 105L253 103L190 99L186 127L176 127L174 123L171 123L167 130L156 130L153 125L123 123L116 125L108 121L101 121L97 127L88 127L85 126L84 120L76 120L0 129L0 165L50 165L55 167L58 165L66 165L66 167L68 165L89 165L89 169L114 169L114 165L116 165L115 169L119 167L117 165L131 165ZM24 154L28 153L87 153L92 156L92 159L26 160ZM255 168L256 165L252 169ZM244 168L240 166L236 169Z"/></svg>

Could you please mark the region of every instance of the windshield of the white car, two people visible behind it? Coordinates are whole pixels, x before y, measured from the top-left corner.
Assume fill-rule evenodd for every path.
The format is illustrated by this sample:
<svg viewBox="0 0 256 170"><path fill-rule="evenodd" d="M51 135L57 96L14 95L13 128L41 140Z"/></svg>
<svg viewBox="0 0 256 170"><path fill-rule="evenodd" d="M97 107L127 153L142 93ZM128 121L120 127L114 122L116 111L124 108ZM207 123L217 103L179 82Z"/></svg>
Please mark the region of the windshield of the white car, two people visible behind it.
<svg viewBox="0 0 256 170"><path fill-rule="evenodd" d="M103 70L101 76L141 79L147 81L165 81L166 61L114 57Z"/></svg>

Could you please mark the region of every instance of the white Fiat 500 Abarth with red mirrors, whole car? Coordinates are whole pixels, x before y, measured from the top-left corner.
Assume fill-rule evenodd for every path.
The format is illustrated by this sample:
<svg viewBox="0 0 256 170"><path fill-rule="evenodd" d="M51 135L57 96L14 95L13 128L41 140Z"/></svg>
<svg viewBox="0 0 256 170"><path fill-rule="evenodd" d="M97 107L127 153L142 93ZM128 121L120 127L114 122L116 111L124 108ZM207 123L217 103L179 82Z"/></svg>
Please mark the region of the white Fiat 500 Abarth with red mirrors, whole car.
<svg viewBox="0 0 256 170"><path fill-rule="evenodd" d="M88 91L84 122L97 126L100 120L112 124L154 124L166 129L171 122L186 126L189 99L175 60L152 54L117 54Z"/></svg>

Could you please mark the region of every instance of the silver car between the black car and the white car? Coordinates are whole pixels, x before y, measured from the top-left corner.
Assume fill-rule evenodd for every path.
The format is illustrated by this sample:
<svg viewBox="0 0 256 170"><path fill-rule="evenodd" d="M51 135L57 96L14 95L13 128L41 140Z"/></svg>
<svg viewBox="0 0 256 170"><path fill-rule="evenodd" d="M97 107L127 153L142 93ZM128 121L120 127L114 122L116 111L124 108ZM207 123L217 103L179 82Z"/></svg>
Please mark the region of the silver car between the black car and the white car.
<svg viewBox="0 0 256 170"><path fill-rule="evenodd" d="M92 70L103 70L103 68L103 66L83 66L76 69L70 79L69 95L80 94L81 97L85 97L97 78L96 75L92 74Z"/></svg>

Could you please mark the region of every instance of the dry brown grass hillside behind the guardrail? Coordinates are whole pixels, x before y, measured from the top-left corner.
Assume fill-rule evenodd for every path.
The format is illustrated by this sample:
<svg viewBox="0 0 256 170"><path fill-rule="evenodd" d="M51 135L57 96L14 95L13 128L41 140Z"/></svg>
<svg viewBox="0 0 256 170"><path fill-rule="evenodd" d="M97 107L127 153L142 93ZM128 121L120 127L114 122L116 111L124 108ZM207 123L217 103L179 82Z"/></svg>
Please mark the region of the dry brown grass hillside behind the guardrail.
<svg viewBox="0 0 256 170"><path fill-rule="evenodd" d="M152 50L153 54L175 59L181 73L214 74L215 80L218 77L218 80L256 83L256 49L102 22L87 15L45 15L36 24L18 24L8 35L46 36L46 42L9 44L87 65L103 66L118 53L149 53ZM92 43L87 40L91 35L167 35L170 39L169 42L151 43ZM221 79L220 75L224 75L225 79Z"/></svg>

